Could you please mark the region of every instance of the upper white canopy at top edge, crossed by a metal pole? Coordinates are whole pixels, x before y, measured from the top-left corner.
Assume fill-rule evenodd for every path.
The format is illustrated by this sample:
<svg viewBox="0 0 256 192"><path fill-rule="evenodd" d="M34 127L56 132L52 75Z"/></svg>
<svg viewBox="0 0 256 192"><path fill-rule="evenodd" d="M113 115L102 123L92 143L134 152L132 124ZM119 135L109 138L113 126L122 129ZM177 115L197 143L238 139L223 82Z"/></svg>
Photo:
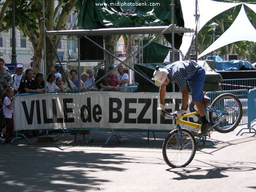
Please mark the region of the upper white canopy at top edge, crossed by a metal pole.
<svg viewBox="0 0 256 192"><path fill-rule="evenodd" d="M211 0L197 0L198 1L198 10L199 10L199 23L198 23L198 31L200 31L204 25L216 15L226 11L234 6L238 6L241 3L223 3L223 2L215 2ZM195 21L195 9L196 9L196 1L191 0L180 0L182 6L182 13L185 23L185 28L196 29L196 21ZM193 9L194 8L194 9ZM188 36L189 34L184 34L182 38L182 45L180 50L183 54L186 54L192 40L192 36Z"/></svg>

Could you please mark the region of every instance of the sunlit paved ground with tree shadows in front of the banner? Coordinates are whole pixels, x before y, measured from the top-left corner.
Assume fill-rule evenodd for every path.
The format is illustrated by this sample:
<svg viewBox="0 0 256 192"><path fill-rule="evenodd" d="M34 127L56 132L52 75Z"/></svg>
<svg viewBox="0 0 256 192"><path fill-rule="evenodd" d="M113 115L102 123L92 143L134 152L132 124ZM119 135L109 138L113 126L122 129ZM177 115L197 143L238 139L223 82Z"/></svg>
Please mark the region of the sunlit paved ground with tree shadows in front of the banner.
<svg viewBox="0 0 256 192"><path fill-rule="evenodd" d="M58 134L56 142L0 143L0 191L255 191L256 137L234 132L211 134L216 143L198 147L185 168L170 168L162 157L167 132L147 142L147 132L93 131Z"/></svg>

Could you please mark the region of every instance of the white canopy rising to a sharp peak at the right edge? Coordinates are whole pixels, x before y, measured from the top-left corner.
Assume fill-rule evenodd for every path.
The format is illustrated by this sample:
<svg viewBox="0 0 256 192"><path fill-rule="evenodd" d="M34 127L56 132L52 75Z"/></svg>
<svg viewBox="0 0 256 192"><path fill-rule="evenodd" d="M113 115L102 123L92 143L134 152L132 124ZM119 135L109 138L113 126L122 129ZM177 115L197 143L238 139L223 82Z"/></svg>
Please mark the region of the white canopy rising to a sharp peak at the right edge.
<svg viewBox="0 0 256 192"><path fill-rule="evenodd" d="M220 47L237 42L248 40L256 42L256 30L251 25L242 5L241 10L233 24L213 44L210 45L198 58L214 51Z"/></svg>

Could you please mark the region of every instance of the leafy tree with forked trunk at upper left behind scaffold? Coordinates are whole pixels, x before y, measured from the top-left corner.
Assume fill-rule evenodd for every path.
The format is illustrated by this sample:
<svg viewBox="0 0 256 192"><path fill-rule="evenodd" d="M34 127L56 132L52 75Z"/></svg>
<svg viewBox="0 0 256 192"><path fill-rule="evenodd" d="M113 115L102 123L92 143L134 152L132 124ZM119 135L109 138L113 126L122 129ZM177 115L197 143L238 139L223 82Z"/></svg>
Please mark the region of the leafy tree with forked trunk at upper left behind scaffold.
<svg viewBox="0 0 256 192"><path fill-rule="evenodd" d="M58 6L55 7L55 1L45 0L45 22L46 29L64 30L70 12L75 9L74 0L58 0ZM12 25L12 0L6 0L2 3L0 11L0 32L6 31ZM40 61L43 50L43 25L42 25L42 2L40 0L15 0L15 25L26 34L32 42L34 48L35 72L41 71ZM50 71L55 63L55 53L61 36L51 36L54 48L52 48L49 38L46 38L47 72Z"/></svg>

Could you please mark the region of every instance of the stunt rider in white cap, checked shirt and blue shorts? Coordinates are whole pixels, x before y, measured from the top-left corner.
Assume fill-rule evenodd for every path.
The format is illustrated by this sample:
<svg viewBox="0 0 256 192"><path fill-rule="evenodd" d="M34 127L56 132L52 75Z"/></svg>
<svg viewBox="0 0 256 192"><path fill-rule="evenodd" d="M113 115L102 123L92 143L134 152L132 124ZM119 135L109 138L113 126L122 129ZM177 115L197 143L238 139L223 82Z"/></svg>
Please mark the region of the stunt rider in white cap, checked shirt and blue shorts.
<svg viewBox="0 0 256 192"><path fill-rule="evenodd" d="M153 75L153 80L155 80L156 86L160 87L158 108L160 114L162 114L162 110L165 109L165 92L166 86L169 83L177 83L180 91L182 92L182 107L175 113L180 117L186 112L188 102L188 90L186 85L188 83L192 93L192 101L196 104L202 120L201 130L198 132L199 136L207 133L208 128L210 127L205 116L205 107L203 104L204 79L205 70L203 67L199 66L198 63L192 60L176 61L164 68L159 68L157 66Z"/></svg>

